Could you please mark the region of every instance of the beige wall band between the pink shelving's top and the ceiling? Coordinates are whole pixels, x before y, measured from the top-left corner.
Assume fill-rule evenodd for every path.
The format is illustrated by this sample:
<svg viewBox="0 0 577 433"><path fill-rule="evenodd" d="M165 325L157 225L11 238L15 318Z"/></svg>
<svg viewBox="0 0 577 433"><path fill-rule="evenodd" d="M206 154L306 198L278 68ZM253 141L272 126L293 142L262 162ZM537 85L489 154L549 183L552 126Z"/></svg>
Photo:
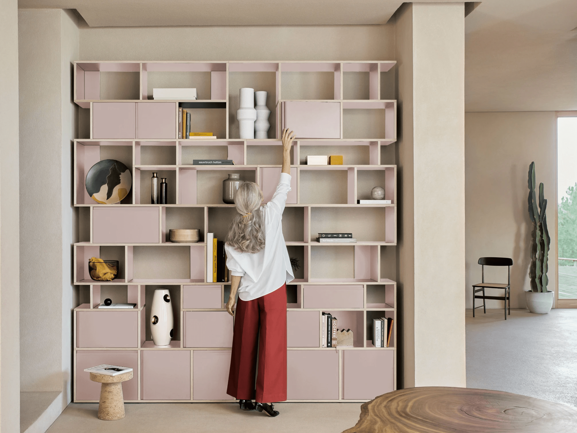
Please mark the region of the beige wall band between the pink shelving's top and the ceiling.
<svg viewBox="0 0 577 433"><path fill-rule="evenodd" d="M391 60L392 25L80 29L83 60Z"/></svg>

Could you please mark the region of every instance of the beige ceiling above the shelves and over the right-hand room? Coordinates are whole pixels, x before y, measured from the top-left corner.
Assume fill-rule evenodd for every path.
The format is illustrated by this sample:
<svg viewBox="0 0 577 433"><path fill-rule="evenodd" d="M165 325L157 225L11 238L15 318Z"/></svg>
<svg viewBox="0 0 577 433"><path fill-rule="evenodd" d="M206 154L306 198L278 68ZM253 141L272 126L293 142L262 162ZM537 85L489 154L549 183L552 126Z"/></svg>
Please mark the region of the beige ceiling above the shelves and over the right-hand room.
<svg viewBox="0 0 577 433"><path fill-rule="evenodd" d="M77 9L91 27L132 27L384 24L401 4L402 0L20 0L18 7ZM577 0L484 0L467 16L465 27L467 111L577 110Z"/></svg>

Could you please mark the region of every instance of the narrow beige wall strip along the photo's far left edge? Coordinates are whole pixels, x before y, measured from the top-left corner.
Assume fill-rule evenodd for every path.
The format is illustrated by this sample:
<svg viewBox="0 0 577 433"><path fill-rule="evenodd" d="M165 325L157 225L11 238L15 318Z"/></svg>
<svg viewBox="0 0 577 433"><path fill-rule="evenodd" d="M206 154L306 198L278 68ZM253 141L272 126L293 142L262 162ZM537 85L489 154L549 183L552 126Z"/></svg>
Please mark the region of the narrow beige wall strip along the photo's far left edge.
<svg viewBox="0 0 577 433"><path fill-rule="evenodd" d="M18 4L0 3L0 431L20 432Z"/></svg>

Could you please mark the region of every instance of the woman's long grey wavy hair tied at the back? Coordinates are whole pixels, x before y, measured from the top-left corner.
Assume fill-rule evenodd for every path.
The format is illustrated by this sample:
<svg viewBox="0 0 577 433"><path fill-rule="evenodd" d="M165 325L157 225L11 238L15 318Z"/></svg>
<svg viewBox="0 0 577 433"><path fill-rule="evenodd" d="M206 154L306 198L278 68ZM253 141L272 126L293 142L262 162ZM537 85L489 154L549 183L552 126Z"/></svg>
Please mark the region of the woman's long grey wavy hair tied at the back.
<svg viewBox="0 0 577 433"><path fill-rule="evenodd" d="M254 182L244 182L234 195L238 214L228 229L226 243L240 252L257 253L264 248L263 192Z"/></svg>

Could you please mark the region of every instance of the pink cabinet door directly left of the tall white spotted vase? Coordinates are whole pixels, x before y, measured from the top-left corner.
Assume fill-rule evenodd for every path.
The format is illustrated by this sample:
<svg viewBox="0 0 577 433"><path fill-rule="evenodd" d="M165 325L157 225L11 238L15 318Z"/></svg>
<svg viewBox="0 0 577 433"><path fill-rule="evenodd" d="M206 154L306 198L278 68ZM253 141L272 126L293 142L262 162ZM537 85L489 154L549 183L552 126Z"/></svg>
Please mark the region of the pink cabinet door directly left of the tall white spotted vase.
<svg viewBox="0 0 577 433"><path fill-rule="evenodd" d="M137 348L137 311L77 311L78 348Z"/></svg>

